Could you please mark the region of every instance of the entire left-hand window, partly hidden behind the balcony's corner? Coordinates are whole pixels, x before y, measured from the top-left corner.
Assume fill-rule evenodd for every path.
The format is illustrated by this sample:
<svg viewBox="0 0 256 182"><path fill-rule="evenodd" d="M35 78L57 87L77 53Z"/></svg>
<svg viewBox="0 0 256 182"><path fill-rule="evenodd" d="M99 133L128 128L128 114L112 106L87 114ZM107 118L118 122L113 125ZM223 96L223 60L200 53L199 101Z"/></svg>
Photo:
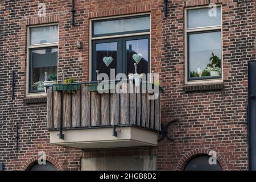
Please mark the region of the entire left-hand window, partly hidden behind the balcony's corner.
<svg viewBox="0 0 256 182"><path fill-rule="evenodd" d="M28 28L28 93L44 92L42 82L57 76L58 26Z"/></svg>

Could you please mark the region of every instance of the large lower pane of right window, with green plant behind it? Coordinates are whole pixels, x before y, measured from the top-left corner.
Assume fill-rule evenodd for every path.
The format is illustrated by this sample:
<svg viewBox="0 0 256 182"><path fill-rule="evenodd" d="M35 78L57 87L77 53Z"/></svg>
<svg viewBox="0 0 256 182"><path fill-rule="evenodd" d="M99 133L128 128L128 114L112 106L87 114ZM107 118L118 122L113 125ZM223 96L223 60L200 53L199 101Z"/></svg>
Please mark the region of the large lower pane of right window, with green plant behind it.
<svg viewBox="0 0 256 182"><path fill-rule="evenodd" d="M220 77L221 32L188 34L188 42L189 78Z"/></svg>

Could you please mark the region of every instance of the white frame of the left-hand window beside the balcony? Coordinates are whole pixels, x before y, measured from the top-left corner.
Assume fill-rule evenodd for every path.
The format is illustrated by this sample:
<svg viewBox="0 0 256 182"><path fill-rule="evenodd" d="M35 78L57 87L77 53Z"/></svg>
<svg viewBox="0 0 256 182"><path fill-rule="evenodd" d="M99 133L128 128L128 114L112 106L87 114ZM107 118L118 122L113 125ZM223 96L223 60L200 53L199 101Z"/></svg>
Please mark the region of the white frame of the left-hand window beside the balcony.
<svg viewBox="0 0 256 182"><path fill-rule="evenodd" d="M58 42L54 43L43 43L43 44L33 44L30 45L30 28L34 27L48 27L48 26L58 26ZM36 97L36 96L46 96L45 92L39 92L39 93L29 93L29 78L30 78L30 49L32 48L47 48L47 47L57 47L58 53L57 53L57 73L59 70L59 23L49 23L49 24L38 24L33 26L27 27L27 69L26 69L26 97ZM58 74L57 74L58 77Z"/></svg>

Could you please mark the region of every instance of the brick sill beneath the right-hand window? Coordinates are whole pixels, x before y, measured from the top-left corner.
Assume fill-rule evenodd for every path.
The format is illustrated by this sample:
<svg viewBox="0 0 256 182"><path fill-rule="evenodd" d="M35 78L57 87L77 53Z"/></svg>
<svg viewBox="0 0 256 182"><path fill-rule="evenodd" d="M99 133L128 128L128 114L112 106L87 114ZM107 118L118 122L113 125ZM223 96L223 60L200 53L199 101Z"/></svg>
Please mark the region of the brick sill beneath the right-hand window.
<svg viewBox="0 0 256 182"><path fill-rule="evenodd" d="M183 86L184 92L222 90L223 88L223 82L212 82L207 84L188 84Z"/></svg>

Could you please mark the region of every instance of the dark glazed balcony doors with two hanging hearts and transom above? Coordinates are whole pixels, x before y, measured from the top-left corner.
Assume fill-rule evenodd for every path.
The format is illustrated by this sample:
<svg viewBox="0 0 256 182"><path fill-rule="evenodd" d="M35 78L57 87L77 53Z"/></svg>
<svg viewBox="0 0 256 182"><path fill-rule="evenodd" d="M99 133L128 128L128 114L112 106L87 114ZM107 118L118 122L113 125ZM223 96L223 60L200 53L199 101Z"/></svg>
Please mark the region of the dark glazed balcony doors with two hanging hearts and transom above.
<svg viewBox="0 0 256 182"><path fill-rule="evenodd" d="M136 25L136 26L134 26ZM92 21L92 80L96 71L147 74L150 70L150 16Z"/></svg>

